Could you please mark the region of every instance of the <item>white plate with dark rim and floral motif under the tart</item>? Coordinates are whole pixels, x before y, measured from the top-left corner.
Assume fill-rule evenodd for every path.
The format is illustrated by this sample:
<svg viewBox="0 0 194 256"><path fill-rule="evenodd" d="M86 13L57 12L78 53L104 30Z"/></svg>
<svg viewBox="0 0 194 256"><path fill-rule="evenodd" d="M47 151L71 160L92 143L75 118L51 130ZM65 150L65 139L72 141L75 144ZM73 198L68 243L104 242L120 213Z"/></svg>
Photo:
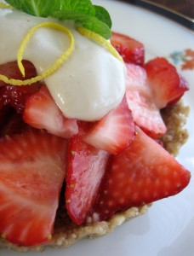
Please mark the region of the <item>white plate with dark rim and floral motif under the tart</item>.
<svg viewBox="0 0 194 256"><path fill-rule="evenodd" d="M191 31L163 16L116 1L94 1L109 10L113 30L137 38L145 44L146 59L156 55L169 57L174 51L184 53L193 49ZM170 61L173 61L169 58ZM181 62L178 68L181 67ZM191 84L185 95L185 103L191 107L187 128L189 141L180 150L177 158L187 169L194 172L194 71L182 71ZM28 253L28 256L193 256L194 255L194 180L179 195L158 201L149 212L123 224L108 236L94 240L84 239L66 249L47 249L43 253ZM19 256L8 250L0 250L1 256Z"/></svg>

